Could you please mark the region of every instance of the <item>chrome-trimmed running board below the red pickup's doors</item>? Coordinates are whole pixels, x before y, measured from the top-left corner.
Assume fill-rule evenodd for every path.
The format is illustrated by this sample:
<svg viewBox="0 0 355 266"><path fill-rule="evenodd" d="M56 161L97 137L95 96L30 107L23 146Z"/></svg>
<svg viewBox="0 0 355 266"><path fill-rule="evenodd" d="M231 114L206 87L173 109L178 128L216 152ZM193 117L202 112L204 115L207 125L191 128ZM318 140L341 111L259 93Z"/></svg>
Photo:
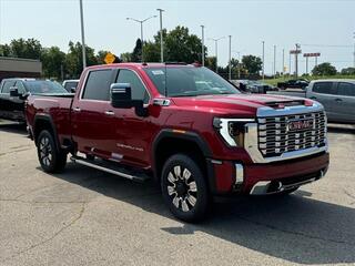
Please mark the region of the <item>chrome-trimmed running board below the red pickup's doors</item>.
<svg viewBox="0 0 355 266"><path fill-rule="evenodd" d="M85 165L92 168L97 168L110 174L114 174L131 181L136 181L136 182L145 182L150 180L151 177L144 173L141 172L135 172L135 171L129 171L126 168L120 167L118 165L114 165L113 163L106 163L101 160L87 160L83 157L78 157L78 156L71 156L70 160L73 163Z"/></svg>

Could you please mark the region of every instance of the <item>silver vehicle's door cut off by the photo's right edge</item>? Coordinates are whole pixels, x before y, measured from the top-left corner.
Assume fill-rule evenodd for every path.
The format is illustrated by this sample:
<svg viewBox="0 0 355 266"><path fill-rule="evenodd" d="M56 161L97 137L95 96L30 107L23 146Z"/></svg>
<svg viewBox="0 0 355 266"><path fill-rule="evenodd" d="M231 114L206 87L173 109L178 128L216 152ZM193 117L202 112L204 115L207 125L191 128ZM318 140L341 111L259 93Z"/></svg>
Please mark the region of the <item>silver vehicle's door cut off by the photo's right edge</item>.
<svg viewBox="0 0 355 266"><path fill-rule="evenodd" d="M338 82L335 102L338 105L339 122L355 123L355 84Z"/></svg>

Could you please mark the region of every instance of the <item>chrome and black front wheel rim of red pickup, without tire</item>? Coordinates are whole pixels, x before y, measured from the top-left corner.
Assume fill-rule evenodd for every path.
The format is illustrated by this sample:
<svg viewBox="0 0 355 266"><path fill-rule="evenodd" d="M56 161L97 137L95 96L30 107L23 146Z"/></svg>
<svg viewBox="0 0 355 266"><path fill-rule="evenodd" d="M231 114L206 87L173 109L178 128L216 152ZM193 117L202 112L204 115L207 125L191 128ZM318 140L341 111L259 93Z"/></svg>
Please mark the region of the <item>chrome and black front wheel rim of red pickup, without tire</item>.
<svg viewBox="0 0 355 266"><path fill-rule="evenodd" d="M196 205L197 186L189 168L175 165L168 174L166 188L176 208L190 212Z"/></svg>

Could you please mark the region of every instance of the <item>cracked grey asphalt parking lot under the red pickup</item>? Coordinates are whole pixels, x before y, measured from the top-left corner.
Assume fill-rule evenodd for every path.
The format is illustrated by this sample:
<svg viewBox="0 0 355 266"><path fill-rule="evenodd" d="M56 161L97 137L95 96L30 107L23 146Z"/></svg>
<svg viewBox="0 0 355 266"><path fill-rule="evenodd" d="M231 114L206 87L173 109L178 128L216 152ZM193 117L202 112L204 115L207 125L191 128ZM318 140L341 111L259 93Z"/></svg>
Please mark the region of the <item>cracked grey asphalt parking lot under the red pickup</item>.
<svg viewBox="0 0 355 266"><path fill-rule="evenodd" d="M0 265L354 265L355 126L331 125L328 137L325 178L215 204L191 225L153 183L72 163L45 174L23 126L0 124Z"/></svg>

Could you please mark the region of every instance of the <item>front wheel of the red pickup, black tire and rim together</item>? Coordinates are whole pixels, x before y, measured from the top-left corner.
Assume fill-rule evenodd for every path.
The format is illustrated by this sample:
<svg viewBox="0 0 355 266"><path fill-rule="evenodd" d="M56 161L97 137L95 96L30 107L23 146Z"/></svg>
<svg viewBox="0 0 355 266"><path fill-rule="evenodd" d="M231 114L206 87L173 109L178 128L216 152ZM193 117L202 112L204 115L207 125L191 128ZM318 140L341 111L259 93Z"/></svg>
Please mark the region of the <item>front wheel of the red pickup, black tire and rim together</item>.
<svg viewBox="0 0 355 266"><path fill-rule="evenodd" d="M205 217L209 190L201 167L191 157L175 154L168 158L161 187L164 201L176 218L192 223Z"/></svg>

